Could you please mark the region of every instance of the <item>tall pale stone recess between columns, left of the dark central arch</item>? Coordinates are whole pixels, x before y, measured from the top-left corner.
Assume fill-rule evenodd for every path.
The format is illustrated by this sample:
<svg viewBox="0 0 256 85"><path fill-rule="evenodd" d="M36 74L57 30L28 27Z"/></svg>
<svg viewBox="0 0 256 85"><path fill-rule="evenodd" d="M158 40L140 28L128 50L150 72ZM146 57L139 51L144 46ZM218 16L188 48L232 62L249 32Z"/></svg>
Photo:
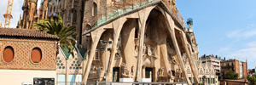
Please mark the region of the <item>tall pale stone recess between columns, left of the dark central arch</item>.
<svg viewBox="0 0 256 85"><path fill-rule="evenodd" d="M121 51L123 62L125 62L128 71L133 70L134 68L132 66L137 63L131 63L136 59L136 55L134 54L135 48L131 48L135 47L136 29L138 29L137 19L126 20L119 35L118 49ZM133 71L129 73L131 72ZM129 76L132 77L131 74Z"/></svg>

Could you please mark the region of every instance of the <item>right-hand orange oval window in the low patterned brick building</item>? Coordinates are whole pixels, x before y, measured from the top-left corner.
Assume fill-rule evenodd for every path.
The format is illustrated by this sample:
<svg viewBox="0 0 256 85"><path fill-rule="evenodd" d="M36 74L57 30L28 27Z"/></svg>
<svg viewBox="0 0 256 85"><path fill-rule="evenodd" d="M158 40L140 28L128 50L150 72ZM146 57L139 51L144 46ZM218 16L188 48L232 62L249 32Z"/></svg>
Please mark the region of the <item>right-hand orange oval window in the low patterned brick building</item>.
<svg viewBox="0 0 256 85"><path fill-rule="evenodd" d="M32 49L32 54L31 54L31 59L33 63L38 63L42 59L42 51L40 48L33 48Z"/></svg>

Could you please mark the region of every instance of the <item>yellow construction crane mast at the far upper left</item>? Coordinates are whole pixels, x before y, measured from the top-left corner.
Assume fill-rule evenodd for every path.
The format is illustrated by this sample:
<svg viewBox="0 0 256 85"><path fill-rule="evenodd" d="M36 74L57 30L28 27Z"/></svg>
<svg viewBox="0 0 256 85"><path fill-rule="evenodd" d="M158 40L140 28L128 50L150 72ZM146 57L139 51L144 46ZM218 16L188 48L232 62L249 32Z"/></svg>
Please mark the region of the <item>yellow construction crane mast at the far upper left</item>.
<svg viewBox="0 0 256 85"><path fill-rule="evenodd" d="M3 27L9 27L9 21L11 18L13 18L13 16L12 16L13 3L14 3L14 0L8 1L6 14L3 14L3 17L5 19Z"/></svg>

